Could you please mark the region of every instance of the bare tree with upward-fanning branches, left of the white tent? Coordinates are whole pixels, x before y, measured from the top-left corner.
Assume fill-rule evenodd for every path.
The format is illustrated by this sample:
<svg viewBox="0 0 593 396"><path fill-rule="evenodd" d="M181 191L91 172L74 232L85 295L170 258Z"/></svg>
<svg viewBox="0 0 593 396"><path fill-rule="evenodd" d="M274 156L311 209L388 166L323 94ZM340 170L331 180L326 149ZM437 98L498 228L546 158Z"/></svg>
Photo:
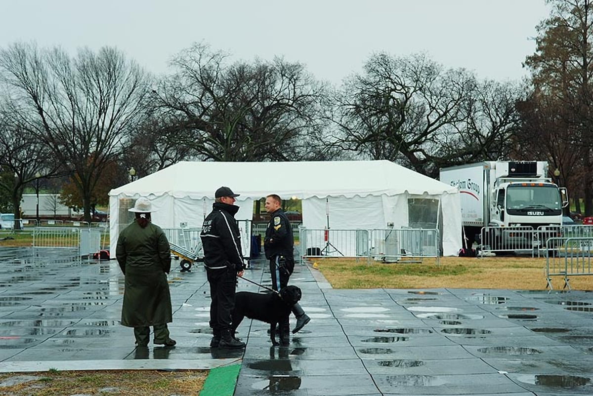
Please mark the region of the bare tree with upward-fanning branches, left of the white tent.
<svg viewBox="0 0 593 396"><path fill-rule="evenodd" d="M20 123L71 172L90 220L104 167L122 154L142 118L148 77L110 47L81 49L71 58L59 48L22 43L0 50L0 72L23 104L15 111Z"/></svg>

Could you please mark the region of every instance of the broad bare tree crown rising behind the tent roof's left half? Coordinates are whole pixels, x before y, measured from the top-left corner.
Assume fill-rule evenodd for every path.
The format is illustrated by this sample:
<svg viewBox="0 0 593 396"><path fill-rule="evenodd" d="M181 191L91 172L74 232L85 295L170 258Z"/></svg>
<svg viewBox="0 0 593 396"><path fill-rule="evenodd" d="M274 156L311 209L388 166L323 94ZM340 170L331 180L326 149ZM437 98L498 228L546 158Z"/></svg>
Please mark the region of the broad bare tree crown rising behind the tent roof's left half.
<svg viewBox="0 0 593 396"><path fill-rule="evenodd" d="M167 110L165 131L198 159L294 161L323 130L324 87L299 63L228 65L224 53L196 44L173 67L155 95Z"/></svg>

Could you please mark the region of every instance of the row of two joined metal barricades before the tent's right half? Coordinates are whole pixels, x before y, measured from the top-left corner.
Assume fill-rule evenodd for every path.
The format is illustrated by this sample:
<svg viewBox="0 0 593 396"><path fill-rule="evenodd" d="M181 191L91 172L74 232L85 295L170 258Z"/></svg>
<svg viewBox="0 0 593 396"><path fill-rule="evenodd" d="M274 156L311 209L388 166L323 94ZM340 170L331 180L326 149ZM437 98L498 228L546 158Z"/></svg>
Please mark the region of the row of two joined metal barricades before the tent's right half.
<svg viewBox="0 0 593 396"><path fill-rule="evenodd" d="M301 227L299 249L305 257L367 257L396 262L401 258L439 257L438 229L308 229Z"/></svg>

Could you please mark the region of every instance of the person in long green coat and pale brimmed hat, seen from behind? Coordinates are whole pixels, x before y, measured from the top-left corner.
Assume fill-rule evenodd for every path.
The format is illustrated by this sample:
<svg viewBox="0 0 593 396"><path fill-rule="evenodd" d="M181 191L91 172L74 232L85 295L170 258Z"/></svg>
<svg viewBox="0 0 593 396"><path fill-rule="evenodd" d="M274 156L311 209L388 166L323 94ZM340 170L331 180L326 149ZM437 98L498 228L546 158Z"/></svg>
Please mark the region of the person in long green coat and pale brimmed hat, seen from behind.
<svg viewBox="0 0 593 396"><path fill-rule="evenodd" d="M139 198L130 212L136 219L119 234L116 257L125 275L122 325L134 328L136 345L145 347L154 328L154 344L174 346L167 323L173 322L167 274L171 251L162 229L151 222L152 204Z"/></svg>

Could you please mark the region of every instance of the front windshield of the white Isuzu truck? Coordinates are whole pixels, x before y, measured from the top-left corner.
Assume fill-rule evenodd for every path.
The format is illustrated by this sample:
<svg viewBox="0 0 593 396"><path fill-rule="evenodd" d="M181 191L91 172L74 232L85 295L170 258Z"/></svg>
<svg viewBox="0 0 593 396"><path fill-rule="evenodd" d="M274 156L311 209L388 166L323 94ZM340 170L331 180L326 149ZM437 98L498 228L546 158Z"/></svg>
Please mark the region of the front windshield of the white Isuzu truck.
<svg viewBox="0 0 593 396"><path fill-rule="evenodd" d="M506 207L508 209L561 209L560 193L557 187L550 185L525 186L511 184L506 189Z"/></svg>

